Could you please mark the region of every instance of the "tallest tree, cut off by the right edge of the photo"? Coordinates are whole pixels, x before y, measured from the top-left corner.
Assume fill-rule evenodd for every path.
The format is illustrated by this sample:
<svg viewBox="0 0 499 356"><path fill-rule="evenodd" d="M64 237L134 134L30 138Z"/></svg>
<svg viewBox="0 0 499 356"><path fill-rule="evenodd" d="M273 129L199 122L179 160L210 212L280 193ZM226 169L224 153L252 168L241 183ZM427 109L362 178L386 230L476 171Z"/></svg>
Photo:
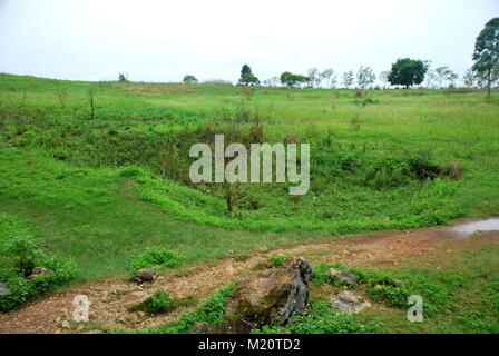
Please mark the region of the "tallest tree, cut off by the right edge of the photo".
<svg viewBox="0 0 499 356"><path fill-rule="evenodd" d="M490 87L499 79L499 18L487 22L474 43L474 65L472 69L487 82L487 97Z"/></svg>

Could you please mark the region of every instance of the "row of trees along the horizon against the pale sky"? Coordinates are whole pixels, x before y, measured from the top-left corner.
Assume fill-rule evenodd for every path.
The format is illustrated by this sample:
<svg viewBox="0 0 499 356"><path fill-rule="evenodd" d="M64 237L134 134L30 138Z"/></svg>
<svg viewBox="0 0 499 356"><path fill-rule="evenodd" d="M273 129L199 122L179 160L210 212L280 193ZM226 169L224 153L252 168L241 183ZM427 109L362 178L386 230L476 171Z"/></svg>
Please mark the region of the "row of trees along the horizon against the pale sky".
<svg viewBox="0 0 499 356"><path fill-rule="evenodd" d="M339 78L333 68L321 71L313 67L307 70L306 75L284 71L281 76L266 79L262 83L253 73L251 67L244 65L237 85L326 89L334 89L342 85L346 89L385 89L388 87L409 89L412 86L425 88L456 87L458 80L461 79L466 87L487 88L490 97L491 87L499 82L499 18L493 18L487 22L478 36L472 60L473 66L466 71L462 78L459 78L459 75L447 66L433 69L429 60L400 58L390 70L382 71L379 75L371 67L361 66L356 73L349 70ZM374 86L376 80L379 83ZM188 75L184 77L184 82L195 83L198 80Z"/></svg>

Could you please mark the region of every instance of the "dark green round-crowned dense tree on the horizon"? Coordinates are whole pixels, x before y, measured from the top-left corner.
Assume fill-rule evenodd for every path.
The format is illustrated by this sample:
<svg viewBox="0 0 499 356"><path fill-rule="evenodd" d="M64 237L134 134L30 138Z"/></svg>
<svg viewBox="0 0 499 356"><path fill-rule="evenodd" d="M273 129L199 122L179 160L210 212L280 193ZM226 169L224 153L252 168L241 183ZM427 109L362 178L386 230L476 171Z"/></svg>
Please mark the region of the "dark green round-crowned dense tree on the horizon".
<svg viewBox="0 0 499 356"><path fill-rule="evenodd" d="M392 65L388 81L392 86L404 86L407 89L413 85L420 85L428 71L428 62L410 58L398 59Z"/></svg>

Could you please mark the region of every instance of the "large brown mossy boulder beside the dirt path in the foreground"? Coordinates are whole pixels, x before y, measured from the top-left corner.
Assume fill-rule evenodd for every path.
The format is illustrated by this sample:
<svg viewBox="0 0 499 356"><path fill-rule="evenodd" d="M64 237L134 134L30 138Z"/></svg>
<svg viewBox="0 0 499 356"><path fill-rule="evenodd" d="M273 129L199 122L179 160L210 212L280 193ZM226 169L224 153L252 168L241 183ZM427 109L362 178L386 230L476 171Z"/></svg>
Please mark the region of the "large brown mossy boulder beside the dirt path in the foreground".
<svg viewBox="0 0 499 356"><path fill-rule="evenodd" d="M284 325L292 314L305 308L311 278L312 268L302 258L260 271L236 285L225 308L225 319L233 324L237 320L246 325Z"/></svg>

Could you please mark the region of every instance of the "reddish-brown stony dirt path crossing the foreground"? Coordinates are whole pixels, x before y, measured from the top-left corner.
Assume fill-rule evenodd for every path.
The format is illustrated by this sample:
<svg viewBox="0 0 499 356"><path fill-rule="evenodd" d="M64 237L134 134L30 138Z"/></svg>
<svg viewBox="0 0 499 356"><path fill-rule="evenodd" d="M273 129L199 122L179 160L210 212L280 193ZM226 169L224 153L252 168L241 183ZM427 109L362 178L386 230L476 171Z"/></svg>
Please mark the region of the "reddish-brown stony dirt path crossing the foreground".
<svg viewBox="0 0 499 356"><path fill-rule="evenodd" d="M157 327L175 320L188 307L156 317L147 317L143 313L129 313L126 307L157 289L165 290L173 297L192 296L194 300L200 300L229 281L247 277L256 270L255 266L265 264L266 258L274 254L303 256L312 264L342 261L354 266L387 267L398 266L409 257L431 256L442 251L450 254L477 247L490 239L499 240L499 234L491 233L486 238L458 239L448 229L427 229L321 240L248 254L234 254L213 263L167 271L153 284L138 286L127 281L126 278L115 278L72 286L20 310L0 315L0 333L94 333L98 327L111 330ZM90 323L78 326L70 322L76 295L89 297ZM194 307L195 305L190 306Z"/></svg>

